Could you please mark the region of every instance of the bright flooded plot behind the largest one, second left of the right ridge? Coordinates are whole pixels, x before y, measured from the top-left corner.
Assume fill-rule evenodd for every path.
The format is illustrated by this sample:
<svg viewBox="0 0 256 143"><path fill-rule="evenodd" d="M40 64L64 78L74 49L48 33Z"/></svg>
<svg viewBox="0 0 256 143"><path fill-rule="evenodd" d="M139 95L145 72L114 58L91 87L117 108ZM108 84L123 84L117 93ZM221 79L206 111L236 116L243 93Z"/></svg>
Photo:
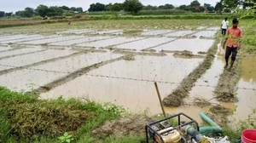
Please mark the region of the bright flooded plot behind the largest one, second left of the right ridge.
<svg viewBox="0 0 256 143"><path fill-rule="evenodd" d="M142 49L148 49L148 48L160 45L162 43L171 42L172 40L174 40L174 39L168 38L168 37L150 37L150 38L146 38L146 39L143 39L143 40L140 40L137 42L133 42L133 43L120 44L114 48L142 50Z"/></svg>

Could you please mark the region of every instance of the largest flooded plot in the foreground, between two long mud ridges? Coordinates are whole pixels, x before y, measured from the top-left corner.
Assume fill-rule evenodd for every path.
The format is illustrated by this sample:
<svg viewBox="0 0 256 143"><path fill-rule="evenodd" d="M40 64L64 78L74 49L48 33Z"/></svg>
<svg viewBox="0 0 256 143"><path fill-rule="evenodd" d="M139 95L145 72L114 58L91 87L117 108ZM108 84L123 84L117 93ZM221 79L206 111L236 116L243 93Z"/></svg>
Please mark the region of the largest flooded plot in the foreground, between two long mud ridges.
<svg viewBox="0 0 256 143"><path fill-rule="evenodd" d="M94 77L104 75L112 77L137 78L160 80L179 83L201 60L184 60L174 58L172 55L165 57L136 56L135 60L119 60L112 64L102 66L89 72L90 76L83 75L73 81L65 83L41 97L57 98L83 98L89 96L91 100L101 102L111 101L120 106L129 108L131 112L143 112L148 109L151 114L160 112L160 104L154 89L154 83L115 79L108 77ZM159 83L160 94L164 97L177 88L177 84Z"/></svg>

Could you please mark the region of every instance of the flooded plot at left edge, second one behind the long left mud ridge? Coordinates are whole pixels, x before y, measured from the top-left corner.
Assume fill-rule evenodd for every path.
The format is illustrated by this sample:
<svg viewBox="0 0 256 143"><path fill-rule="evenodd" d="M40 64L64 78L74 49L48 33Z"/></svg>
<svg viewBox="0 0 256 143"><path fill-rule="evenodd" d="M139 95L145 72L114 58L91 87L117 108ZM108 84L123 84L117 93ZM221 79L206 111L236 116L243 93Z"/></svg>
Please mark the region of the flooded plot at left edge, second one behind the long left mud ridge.
<svg viewBox="0 0 256 143"><path fill-rule="evenodd" d="M0 64L8 65L8 66L26 66L32 63L36 63L38 61L54 59L54 58L58 58L58 57L65 56L68 54L73 54L73 53L74 51L71 51L71 50L49 49L49 50L38 52L35 54L20 55L17 57L6 59L6 60L0 60ZM7 70L10 68L12 67L3 67L1 68L1 71Z"/></svg>

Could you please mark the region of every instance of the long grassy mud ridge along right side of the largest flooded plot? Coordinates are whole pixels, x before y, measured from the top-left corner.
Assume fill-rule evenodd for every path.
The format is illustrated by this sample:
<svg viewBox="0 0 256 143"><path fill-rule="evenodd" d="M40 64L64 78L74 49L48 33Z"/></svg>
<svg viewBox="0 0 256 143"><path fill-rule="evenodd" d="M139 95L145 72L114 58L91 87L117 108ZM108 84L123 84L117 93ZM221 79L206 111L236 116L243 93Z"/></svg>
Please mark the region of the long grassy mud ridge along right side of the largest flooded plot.
<svg viewBox="0 0 256 143"><path fill-rule="evenodd" d="M207 56L201 65L197 66L193 72L183 79L177 89L174 89L172 94L164 98L163 103L165 106L182 106L183 99L189 96L189 91L193 88L195 82L212 66L215 54L218 50L218 38L212 47L207 51Z"/></svg>

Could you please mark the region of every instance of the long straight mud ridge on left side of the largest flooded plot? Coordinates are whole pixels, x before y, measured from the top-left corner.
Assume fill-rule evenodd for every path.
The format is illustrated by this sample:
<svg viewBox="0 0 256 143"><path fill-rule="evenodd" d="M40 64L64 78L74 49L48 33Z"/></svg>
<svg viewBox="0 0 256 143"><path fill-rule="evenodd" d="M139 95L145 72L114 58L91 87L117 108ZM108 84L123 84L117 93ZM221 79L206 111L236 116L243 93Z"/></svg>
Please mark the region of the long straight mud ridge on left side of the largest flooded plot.
<svg viewBox="0 0 256 143"><path fill-rule="evenodd" d="M106 61L102 61L100 63L96 63L96 64L91 65L91 66L86 66L84 68L79 69L76 72L72 72L72 73L68 74L65 77L61 77L61 78L59 78L59 79L57 79L57 80L55 80L51 83L47 83L44 86L41 86L38 89L35 89L35 91L38 94L45 93L45 92L49 91L50 89L54 89L55 87L58 87L63 83L67 83L67 82L73 80L76 77L80 77L81 75L84 75L85 73L88 73L92 70L95 70L96 68L98 68L100 66L104 66L104 65L107 65L109 63L113 63L115 61L118 61L118 60L124 60L126 56L127 55L124 55L124 56L121 56L121 57L113 59L113 60L106 60Z"/></svg>

